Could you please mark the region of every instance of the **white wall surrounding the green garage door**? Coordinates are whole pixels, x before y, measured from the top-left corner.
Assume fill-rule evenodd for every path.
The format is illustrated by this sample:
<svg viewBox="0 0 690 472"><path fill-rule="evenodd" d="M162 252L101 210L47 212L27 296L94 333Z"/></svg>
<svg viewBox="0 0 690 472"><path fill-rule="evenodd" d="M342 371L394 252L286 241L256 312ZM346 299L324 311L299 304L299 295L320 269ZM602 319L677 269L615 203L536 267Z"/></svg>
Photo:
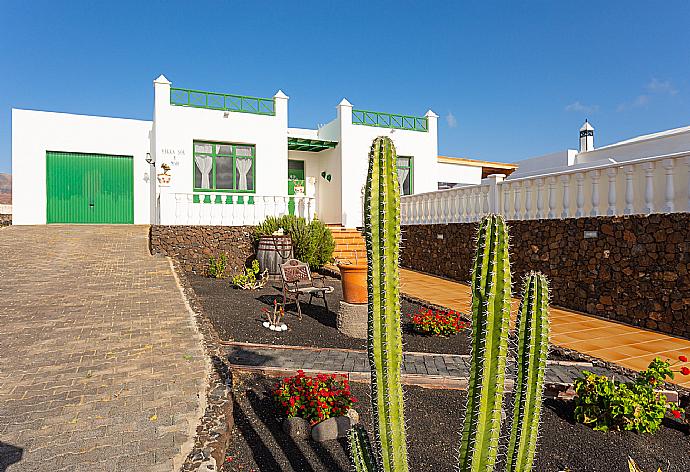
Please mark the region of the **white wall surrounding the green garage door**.
<svg viewBox="0 0 690 472"><path fill-rule="evenodd" d="M46 223L46 151L133 157L134 223L150 222L151 122L12 109L12 204L15 225Z"/></svg>

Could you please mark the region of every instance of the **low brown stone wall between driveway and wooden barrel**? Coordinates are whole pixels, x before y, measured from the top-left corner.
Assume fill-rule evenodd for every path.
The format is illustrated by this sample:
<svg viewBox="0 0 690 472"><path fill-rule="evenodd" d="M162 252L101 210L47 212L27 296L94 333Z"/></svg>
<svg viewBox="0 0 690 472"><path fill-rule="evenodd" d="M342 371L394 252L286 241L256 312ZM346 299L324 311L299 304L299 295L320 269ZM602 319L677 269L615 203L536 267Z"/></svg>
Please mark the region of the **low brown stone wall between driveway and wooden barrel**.
<svg viewBox="0 0 690 472"><path fill-rule="evenodd" d="M228 274L254 258L251 226L151 226L152 254L170 256L186 272L206 274L211 256L228 256Z"/></svg>

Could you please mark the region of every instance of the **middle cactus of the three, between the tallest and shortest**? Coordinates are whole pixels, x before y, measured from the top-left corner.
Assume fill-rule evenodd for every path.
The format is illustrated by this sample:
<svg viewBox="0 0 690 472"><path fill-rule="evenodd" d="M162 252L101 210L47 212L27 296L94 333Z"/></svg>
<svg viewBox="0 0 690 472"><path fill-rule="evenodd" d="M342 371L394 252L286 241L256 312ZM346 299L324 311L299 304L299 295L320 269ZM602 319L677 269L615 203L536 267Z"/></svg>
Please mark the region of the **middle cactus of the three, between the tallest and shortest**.
<svg viewBox="0 0 690 472"><path fill-rule="evenodd" d="M461 472L491 472L501 434L501 407L510 327L508 230L485 217L472 270L472 358L460 441Z"/></svg>

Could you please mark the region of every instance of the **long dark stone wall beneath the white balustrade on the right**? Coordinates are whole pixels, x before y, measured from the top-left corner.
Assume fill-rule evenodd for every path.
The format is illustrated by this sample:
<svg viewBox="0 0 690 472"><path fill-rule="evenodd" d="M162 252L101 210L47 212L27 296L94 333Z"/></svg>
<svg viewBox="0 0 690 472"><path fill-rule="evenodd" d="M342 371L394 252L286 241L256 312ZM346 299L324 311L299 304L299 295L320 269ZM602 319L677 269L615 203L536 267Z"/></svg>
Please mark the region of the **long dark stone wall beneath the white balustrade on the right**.
<svg viewBox="0 0 690 472"><path fill-rule="evenodd" d="M508 223L514 292L540 270L554 305L690 338L690 214ZM466 282L475 233L474 223L405 226L402 265Z"/></svg>

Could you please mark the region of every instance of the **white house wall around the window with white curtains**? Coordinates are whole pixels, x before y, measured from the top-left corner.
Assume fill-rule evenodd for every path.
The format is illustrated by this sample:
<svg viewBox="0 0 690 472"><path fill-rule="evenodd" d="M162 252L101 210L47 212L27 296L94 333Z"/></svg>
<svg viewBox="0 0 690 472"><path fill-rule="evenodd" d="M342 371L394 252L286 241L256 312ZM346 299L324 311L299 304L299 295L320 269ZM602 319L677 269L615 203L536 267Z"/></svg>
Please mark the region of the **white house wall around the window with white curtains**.
<svg viewBox="0 0 690 472"><path fill-rule="evenodd" d="M200 140L255 145L256 195L287 195L288 97L282 92L274 97L271 116L171 105L170 82L164 77L156 79L154 91L156 166L172 167L172 182L165 191L192 193L193 142Z"/></svg>

